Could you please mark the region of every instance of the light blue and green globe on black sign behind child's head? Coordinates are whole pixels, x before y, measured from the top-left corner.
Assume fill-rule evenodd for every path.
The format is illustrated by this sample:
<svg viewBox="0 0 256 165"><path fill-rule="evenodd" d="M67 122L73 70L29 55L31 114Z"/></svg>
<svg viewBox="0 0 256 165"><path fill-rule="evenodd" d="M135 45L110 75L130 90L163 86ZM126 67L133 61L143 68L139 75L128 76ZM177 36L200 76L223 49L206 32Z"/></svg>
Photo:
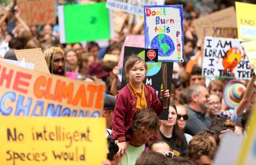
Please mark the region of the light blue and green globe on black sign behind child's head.
<svg viewBox="0 0 256 165"><path fill-rule="evenodd" d="M145 51L138 53L138 57L145 60ZM147 76L156 75L162 67L162 63L147 63Z"/></svg>

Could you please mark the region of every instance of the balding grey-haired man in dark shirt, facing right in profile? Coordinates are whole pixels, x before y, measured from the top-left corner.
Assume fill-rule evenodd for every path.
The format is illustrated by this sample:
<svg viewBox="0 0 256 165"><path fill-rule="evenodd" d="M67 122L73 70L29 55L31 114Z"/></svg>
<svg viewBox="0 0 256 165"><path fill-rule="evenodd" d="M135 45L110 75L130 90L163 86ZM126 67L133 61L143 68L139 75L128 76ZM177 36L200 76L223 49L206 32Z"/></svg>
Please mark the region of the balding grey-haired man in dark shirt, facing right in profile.
<svg viewBox="0 0 256 165"><path fill-rule="evenodd" d="M187 89L188 119L185 133L195 135L198 131L209 128L211 119L206 115L208 110L209 93L206 87L192 85Z"/></svg>

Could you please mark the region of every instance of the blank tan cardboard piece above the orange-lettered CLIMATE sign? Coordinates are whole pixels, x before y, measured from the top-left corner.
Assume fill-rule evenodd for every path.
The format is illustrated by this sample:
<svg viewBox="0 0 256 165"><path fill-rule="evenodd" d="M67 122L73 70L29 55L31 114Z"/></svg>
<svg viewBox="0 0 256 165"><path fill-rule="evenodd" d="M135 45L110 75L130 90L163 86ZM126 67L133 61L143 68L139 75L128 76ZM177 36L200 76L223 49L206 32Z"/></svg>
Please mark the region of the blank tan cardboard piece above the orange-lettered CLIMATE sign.
<svg viewBox="0 0 256 165"><path fill-rule="evenodd" d="M26 62L36 65L36 71L50 73L41 48L14 50L14 52L18 61L25 59Z"/></svg>

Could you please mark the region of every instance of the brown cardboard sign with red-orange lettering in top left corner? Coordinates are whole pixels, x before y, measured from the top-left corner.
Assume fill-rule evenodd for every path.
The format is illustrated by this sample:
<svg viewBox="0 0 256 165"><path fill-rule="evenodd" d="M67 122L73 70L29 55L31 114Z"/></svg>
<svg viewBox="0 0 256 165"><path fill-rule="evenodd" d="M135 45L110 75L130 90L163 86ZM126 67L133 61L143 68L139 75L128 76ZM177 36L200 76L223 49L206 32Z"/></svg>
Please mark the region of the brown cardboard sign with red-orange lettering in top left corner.
<svg viewBox="0 0 256 165"><path fill-rule="evenodd" d="M29 25L56 24L56 6L54 0L17 0L21 18Z"/></svg>

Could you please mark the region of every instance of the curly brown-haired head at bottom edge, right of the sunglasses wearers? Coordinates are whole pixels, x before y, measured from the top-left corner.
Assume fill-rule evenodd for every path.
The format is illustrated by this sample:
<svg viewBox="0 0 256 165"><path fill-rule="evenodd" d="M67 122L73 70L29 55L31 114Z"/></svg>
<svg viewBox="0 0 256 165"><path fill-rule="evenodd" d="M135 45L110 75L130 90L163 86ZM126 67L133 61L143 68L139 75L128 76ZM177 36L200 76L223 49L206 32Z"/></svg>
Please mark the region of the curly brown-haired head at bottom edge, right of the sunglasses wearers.
<svg viewBox="0 0 256 165"><path fill-rule="evenodd" d="M216 150L216 144L209 137L195 135L189 142L187 157L197 162L198 165L213 164Z"/></svg>

